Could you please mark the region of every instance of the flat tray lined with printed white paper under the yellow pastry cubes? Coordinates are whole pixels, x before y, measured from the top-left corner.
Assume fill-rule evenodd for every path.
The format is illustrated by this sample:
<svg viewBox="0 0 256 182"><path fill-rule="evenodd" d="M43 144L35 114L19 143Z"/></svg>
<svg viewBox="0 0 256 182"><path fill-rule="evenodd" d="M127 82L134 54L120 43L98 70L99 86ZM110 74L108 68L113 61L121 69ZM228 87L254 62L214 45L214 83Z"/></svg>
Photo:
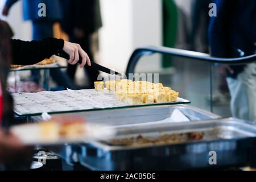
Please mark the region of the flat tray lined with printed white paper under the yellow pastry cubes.
<svg viewBox="0 0 256 182"><path fill-rule="evenodd" d="M137 108L143 106L161 106L190 104L190 101L177 98L176 102L129 105L117 100L114 92L104 90L64 90L58 92L15 93L14 111L20 117L49 114L76 113L82 111Z"/></svg>

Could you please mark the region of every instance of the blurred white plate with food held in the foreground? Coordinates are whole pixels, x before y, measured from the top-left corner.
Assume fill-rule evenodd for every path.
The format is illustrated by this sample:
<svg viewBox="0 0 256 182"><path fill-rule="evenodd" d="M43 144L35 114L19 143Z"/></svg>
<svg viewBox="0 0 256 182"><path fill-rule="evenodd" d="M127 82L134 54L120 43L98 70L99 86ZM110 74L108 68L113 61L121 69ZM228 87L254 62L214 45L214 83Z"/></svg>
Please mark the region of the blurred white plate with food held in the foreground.
<svg viewBox="0 0 256 182"><path fill-rule="evenodd" d="M52 145L64 143L88 142L89 140L101 140L115 136L115 129L105 125L92 125L85 123L85 134L78 137L59 137L56 139L44 138L40 134L37 124L18 125L11 128L11 133L16 135L25 145Z"/></svg>

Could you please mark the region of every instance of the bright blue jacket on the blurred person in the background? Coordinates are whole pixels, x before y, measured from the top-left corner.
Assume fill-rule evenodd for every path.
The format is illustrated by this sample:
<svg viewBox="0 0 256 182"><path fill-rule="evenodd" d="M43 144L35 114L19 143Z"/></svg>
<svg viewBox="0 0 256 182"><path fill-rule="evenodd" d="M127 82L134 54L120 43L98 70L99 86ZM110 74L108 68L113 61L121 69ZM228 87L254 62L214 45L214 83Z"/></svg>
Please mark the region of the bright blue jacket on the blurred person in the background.
<svg viewBox="0 0 256 182"><path fill-rule="evenodd" d="M5 6L10 7L19 0L6 0ZM38 11L39 3L46 4L46 17L40 17ZM59 20L63 16L60 0L23 0L23 18L24 20L51 19Z"/></svg>

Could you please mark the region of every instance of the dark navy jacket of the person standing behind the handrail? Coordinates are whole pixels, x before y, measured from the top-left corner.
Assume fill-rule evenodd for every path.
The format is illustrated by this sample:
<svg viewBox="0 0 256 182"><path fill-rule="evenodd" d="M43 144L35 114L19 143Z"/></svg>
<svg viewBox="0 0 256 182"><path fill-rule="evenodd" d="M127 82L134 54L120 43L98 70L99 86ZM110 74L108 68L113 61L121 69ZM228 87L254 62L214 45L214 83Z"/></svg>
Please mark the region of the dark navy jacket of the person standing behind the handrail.
<svg viewBox="0 0 256 182"><path fill-rule="evenodd" d="M256 1L215 0L217 16L210 18L209 44L215 57L238 57L237 49L245 55L253 55L256 42ZM232 67L236 77L243 71L242 65Z"/></svg>

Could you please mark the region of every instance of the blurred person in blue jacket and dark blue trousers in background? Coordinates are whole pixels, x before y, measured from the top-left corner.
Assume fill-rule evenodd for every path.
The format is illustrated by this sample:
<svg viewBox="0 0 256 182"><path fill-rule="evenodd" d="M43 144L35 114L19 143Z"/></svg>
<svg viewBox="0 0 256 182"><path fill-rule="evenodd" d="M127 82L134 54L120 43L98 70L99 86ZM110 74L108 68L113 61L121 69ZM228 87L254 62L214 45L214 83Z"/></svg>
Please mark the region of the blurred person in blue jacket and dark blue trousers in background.
<svg viewBox="0 0 256 182"><path fill-rule="evenodd" d="M6 0L2 14L7 16L15 2L19 0ZM46 16L39 16L39 4L46 5ZM61 9L61 0L23 0L23 18L31 20L32 23L32 40L42 40L43 38L53 37L53 24L60 21L63 16ZM42 61L42 60L39 60ZM39 82L40 72L31 71L32 80ZM72 80L60 69L50 69L50 75L53 80L65 88L76 89Z"/></svg>

